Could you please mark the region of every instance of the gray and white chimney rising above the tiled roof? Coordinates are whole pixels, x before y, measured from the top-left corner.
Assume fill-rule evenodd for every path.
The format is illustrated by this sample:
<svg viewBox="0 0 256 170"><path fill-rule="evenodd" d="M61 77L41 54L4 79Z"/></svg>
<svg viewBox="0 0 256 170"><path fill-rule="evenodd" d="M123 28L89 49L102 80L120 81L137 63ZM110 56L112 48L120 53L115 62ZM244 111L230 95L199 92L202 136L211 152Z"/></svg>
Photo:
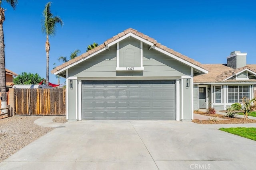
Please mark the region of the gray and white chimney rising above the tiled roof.
<svg viewBox="0 0 256 170"><path fill-rule="evenodd" d="M246 66L247 53L241 53L240 51L233 51L230 56L227 57L227 66L231 68L241 68Z"/></svg>

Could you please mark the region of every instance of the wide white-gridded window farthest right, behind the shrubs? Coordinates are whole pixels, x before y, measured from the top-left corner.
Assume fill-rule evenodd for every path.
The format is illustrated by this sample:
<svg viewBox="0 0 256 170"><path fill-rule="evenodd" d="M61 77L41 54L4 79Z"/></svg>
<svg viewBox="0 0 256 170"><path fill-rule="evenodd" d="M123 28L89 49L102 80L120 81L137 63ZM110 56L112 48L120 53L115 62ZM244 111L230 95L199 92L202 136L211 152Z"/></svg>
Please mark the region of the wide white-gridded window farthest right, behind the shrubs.
<svg viewBox="0 0 256 170"><path fill-rule="evenodd" d="M242 98L250 98L250 86L228 86L228 103L242 102Z"/></svg>

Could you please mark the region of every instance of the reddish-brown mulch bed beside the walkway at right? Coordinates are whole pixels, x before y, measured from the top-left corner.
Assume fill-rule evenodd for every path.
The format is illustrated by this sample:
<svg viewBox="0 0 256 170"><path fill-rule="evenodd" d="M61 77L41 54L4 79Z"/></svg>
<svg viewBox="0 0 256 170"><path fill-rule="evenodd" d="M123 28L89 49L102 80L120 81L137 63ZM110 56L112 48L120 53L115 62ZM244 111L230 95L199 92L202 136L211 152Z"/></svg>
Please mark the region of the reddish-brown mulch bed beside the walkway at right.
<svg viewBox="0 0 256 170"><path fill-rule="evenodd" d="M223 119L228 119L228 120L217 120L217 121L198 120L198 119L192 120L192 122L198 123L198 124L242 124L242 123L256 123L256 120L254 120L254 119L246 119L246 120L244 120L244 118L240 118L240 117L235 117L235 118L224 117L224 115L220 115L220 114L207 114L207 113L202 112L202 111L196 111L194 113L200 114L200 115L206 115L206 116L220 117L220 118L223 118Z"/></svg>

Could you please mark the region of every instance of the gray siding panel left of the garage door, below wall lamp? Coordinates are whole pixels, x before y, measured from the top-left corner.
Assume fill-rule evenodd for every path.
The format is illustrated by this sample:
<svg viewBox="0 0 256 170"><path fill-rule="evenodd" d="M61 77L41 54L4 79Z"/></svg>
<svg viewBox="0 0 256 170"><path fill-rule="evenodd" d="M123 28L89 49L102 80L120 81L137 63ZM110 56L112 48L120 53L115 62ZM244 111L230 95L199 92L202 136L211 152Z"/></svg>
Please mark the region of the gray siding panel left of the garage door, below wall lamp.
<svg viewBox="0 0 256 170"><path fill-rule="evenodd" d="M73 81L73 89L70 89L70 83L68 81L68 120L76 119L76 80Z"/></svg>

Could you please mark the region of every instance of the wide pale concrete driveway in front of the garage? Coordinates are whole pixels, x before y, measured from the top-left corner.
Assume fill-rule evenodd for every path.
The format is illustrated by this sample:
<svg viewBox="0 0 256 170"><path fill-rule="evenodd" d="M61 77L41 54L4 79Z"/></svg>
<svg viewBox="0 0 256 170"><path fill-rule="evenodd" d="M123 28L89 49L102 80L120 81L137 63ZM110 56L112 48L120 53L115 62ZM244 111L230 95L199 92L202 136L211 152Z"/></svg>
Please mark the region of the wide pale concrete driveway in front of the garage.
<svg viewBox="0 0 256 170"><path fill-rule="evenodd" d="M65 123L0 163L24 170L255 169L256 141L178 121Z"/></svg>

